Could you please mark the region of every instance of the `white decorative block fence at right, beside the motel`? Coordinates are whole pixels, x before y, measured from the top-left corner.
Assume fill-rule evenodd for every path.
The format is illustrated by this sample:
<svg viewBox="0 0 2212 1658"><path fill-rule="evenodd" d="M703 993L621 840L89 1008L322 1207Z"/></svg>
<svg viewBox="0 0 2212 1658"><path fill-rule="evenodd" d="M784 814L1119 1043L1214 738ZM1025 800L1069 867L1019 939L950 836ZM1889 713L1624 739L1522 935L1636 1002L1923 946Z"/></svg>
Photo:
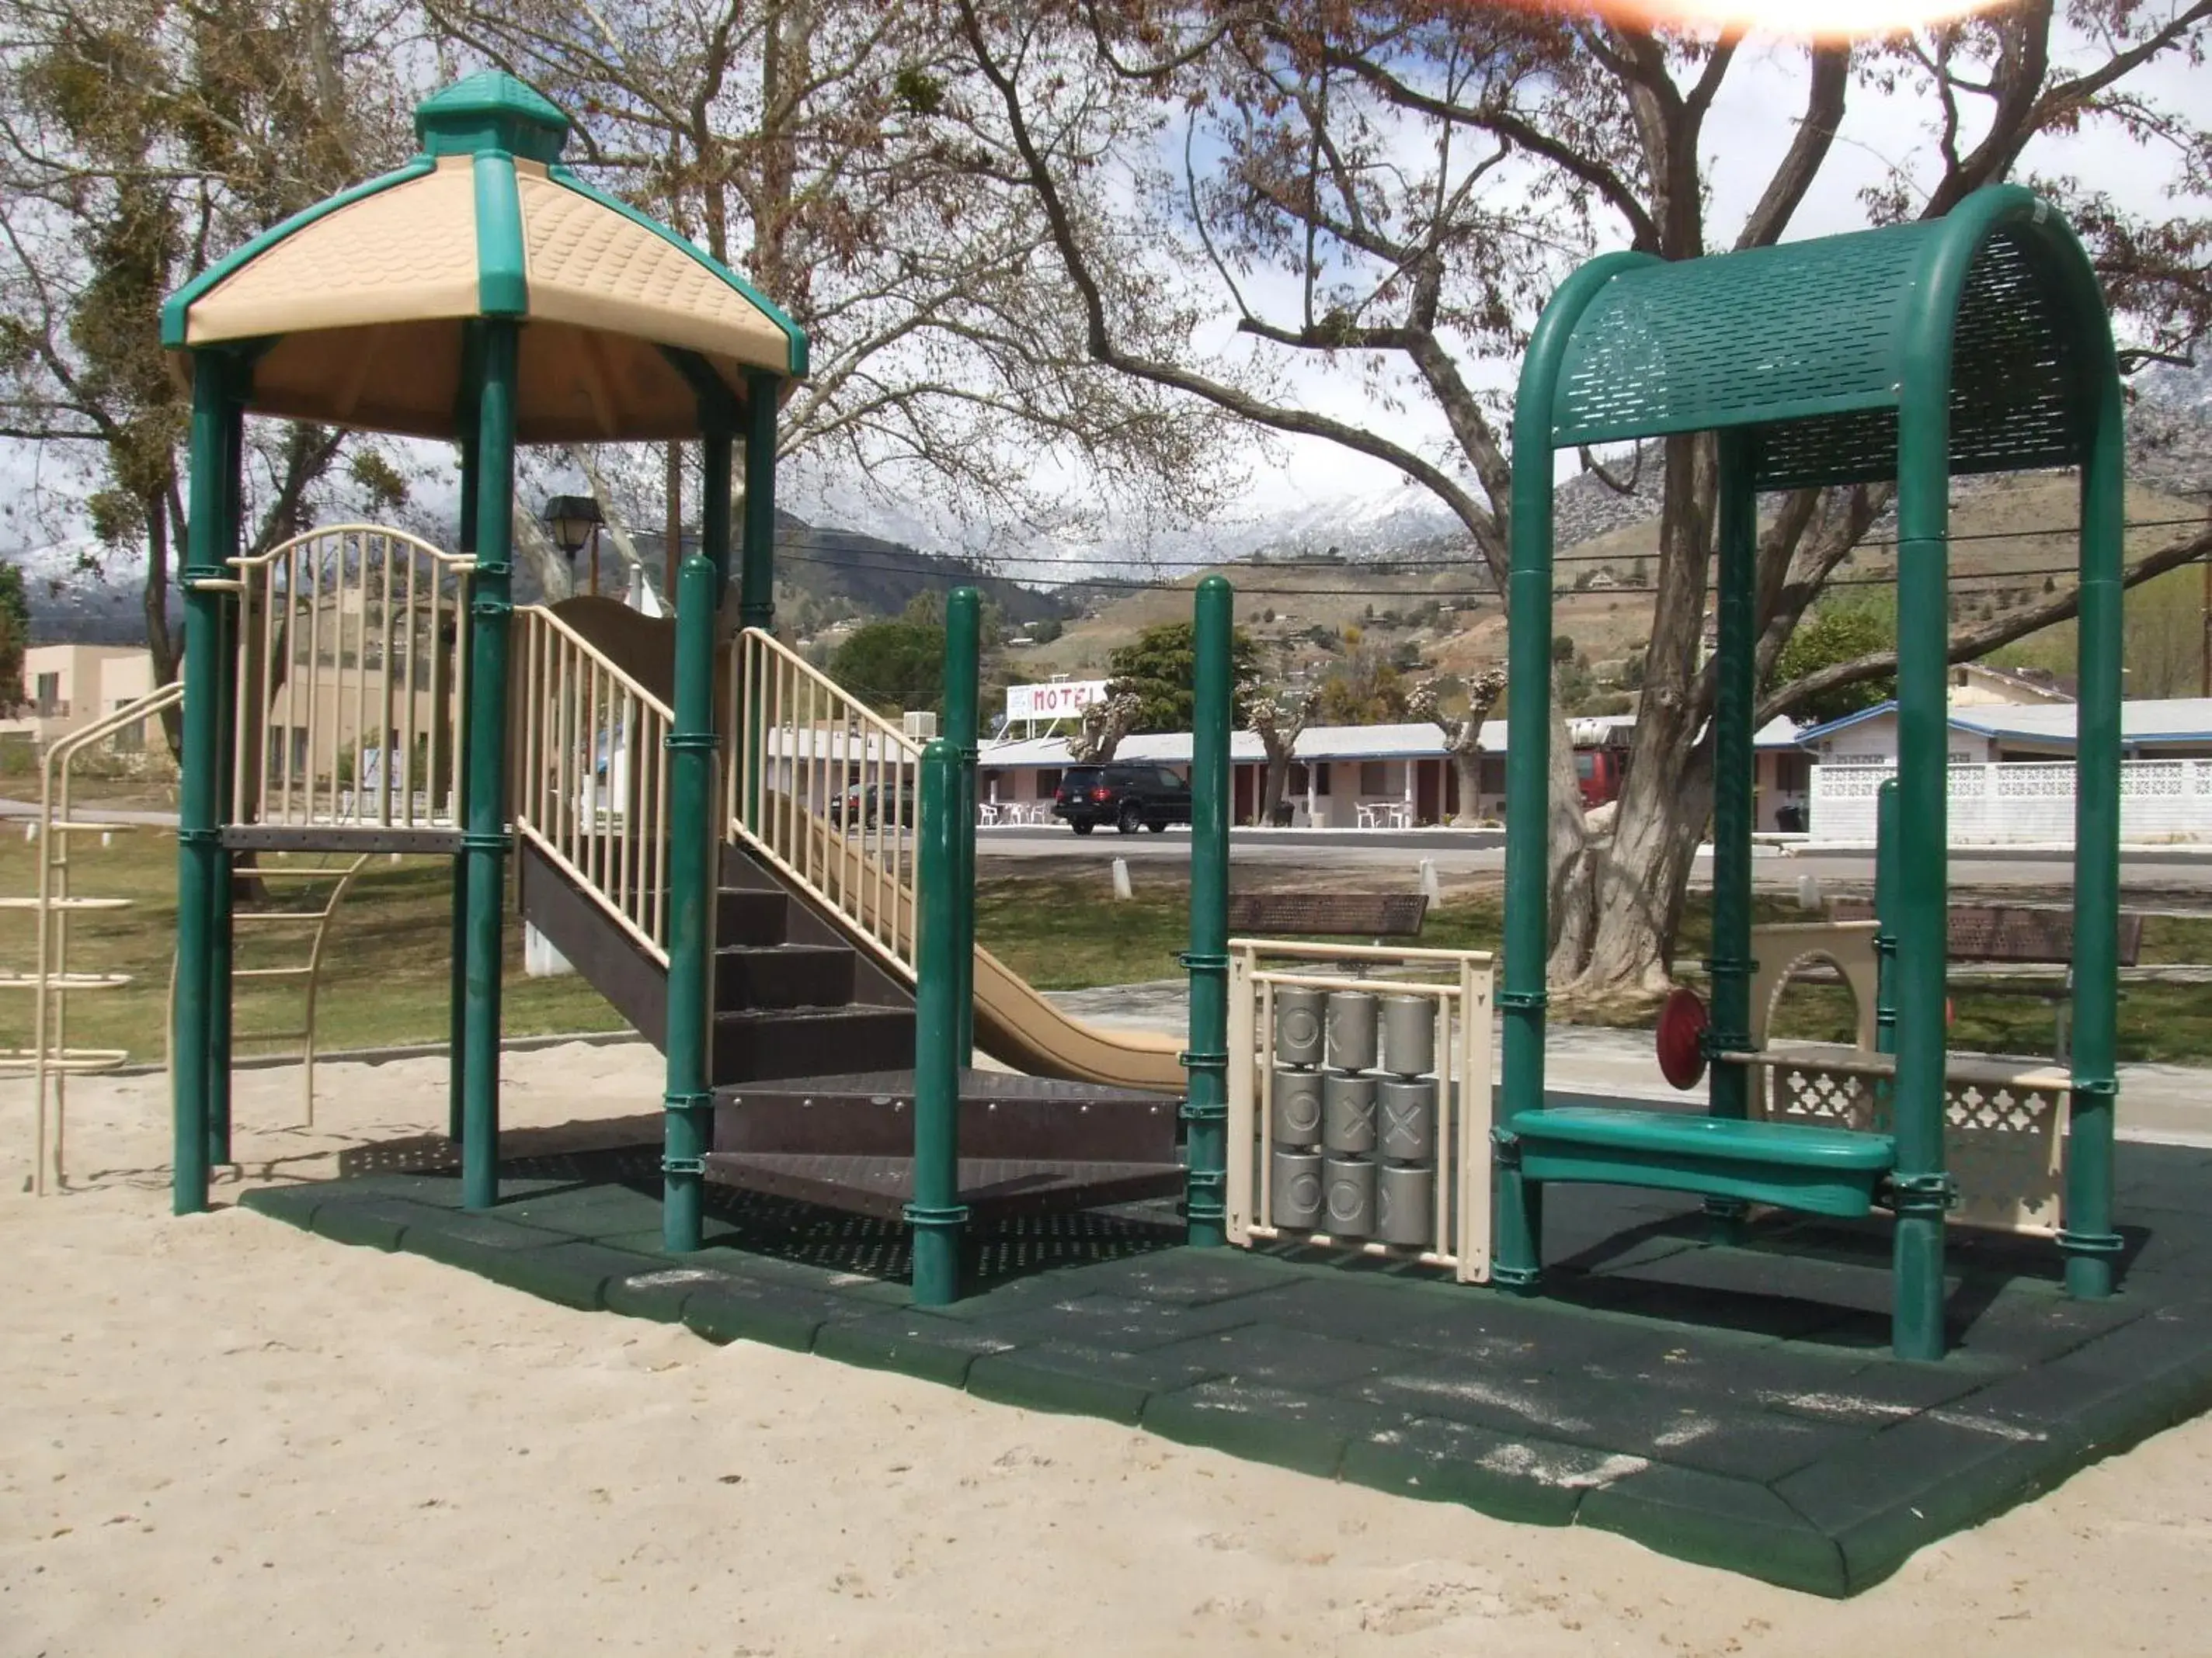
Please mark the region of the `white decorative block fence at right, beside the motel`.
<svg viewBox="0 0 2212 1658"><path fill-rule="evenodd" d="M1874 796L1887 765L1812 767L1812 840L1874 844ZM1953 765L1953 847L2073 844L2070 760ZM2132 847L2212 844L2212 760L2121 760L2119 838Z"/></svg>

